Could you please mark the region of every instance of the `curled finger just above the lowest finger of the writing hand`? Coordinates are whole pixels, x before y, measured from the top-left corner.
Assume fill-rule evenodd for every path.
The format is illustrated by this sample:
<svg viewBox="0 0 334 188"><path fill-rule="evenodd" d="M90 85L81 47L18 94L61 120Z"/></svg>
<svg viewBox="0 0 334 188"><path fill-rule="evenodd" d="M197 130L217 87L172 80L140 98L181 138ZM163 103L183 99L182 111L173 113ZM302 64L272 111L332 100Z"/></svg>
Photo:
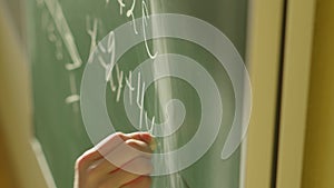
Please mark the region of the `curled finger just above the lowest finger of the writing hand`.
<svg viewBox="0 0 334 188"><path fill-rule="evenodd" d="M124 185L131 184L132 181L136 181L136 179L138 179L140 176L150 174L153 170L153 165L149 159L139 157L128 162L125 168L136 169L136 171L139 174L131 174L121 168L109 174L100 186L119 188Z"/></svg>

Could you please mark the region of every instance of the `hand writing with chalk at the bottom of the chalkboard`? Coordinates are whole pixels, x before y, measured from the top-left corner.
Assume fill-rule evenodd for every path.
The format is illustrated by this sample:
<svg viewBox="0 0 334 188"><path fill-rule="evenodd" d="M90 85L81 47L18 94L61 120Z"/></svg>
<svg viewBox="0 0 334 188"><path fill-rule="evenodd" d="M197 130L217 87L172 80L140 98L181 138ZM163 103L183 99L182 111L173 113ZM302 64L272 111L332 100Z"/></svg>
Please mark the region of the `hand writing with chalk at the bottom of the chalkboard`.
<svg viewBox="0 0 334 188"><path fill-rule="evenodd" d="M75 188L149 188L150 146L148 132L109 136L77 159Z"/></svg>

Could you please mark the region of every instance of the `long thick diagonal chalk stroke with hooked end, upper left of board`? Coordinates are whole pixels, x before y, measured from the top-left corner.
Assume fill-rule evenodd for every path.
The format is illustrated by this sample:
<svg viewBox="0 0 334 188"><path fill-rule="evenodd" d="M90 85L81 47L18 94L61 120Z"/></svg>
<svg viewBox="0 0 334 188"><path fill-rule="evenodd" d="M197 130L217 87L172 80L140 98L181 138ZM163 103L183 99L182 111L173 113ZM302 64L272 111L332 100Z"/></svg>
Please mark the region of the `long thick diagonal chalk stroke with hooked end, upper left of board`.
<svg viewBox="0 0 334 188"><path fill-rule="evenodd" d="M47 8L50 11L51 17L53 18L55 24L59 34L62 38L62 41L70 55L72 63L66 65L68 70L73 70L82 65L82 60L79 56L73 34L71 33L69 26L63 17L61 7L57 0L45 0Z"/></svg>

